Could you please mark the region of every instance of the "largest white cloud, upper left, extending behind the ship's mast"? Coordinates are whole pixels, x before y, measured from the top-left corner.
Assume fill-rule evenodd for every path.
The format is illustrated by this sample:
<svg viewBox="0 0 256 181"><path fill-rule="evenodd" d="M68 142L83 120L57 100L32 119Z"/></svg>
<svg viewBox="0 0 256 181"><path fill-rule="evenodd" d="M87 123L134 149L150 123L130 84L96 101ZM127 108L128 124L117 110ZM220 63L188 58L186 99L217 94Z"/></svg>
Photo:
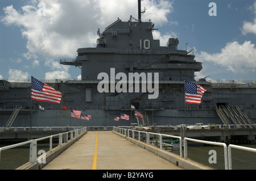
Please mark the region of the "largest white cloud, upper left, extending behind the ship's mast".
<svg viewBox="0 0 256 181"><path fill-rule="evenodd" d="M33 66L43 64L53 71L68 72L69 66L61 66L56 58L74 58L77 48L95 47L98 28L104 29L118 17L126 21L133 15L137 18L137 1L119 0L44 0L46 15L40 16L42 7L40 1L30 0L20 10L13 5L3 9L5 16L0 22L6 26L18 26L24 39L27 40L27 52L23 57L27 60L34 59ZM167 0L142 1L142 9L146 7L145 19L154 20L161 25L168 22L167 15L172 12L172 2ZM102 32L102 31L101 31ZM43 57L40 60L39 57ZM59 64L59 65L57 65ZM31 65L31 62L29 62ZM47 77L51 77L47 73Z"/></svg>

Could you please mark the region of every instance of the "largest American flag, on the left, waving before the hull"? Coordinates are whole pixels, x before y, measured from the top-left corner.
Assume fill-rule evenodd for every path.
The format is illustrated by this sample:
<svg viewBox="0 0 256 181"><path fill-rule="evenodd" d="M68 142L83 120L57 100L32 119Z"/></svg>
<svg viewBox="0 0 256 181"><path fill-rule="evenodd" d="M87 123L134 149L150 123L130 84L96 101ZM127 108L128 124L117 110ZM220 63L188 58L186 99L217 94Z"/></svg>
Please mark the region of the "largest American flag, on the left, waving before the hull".
<svg viewBox="0 0 256 181"><path fill-rule="evenodd" d="M40 102L60 103L61 92L31 76L31 99Z"/></svg>

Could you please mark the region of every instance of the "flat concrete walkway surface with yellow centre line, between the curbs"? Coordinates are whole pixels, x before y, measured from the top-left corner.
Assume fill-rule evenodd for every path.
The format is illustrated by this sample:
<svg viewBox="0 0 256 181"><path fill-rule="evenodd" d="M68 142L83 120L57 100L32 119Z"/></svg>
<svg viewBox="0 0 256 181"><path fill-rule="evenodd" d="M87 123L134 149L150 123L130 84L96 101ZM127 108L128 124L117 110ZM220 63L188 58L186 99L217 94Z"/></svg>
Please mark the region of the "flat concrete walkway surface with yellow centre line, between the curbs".
<svg viewBox="0 0 256 181"><path fill-rule="evenodd" d="M89 131L43 170L183 170L112 131Z"/></svg>

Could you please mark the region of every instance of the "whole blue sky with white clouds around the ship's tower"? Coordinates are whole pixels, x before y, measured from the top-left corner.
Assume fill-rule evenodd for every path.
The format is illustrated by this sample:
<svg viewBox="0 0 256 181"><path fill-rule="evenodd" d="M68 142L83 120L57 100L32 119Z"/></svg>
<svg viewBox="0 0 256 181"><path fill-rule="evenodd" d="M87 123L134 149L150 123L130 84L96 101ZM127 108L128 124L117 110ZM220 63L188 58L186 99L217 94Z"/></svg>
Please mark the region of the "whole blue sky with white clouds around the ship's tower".
<svg viewBox="0 0 256 181"><path fill-rule="evenodd" d="M97 30L138 18L137 0L0 0L0 79L79 78L59 64L78 48L96 47ZM144 0L154 39L192 50L203 62L196 79L255 81L256 0Z"/></svg>

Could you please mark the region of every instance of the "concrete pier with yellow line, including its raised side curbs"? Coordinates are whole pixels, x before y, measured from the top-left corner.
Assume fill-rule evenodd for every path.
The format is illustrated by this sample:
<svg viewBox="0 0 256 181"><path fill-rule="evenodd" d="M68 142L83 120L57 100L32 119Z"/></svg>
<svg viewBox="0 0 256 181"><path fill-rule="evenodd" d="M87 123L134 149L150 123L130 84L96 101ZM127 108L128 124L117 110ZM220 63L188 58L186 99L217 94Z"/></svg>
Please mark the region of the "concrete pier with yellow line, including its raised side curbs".
<svg viewBox="0 0 256 181"><path fill-rule="evenodd" d="M55 154L46 164L27 163L17 170L31 169L210 170L207 166L115 131L87 131L74 144L64 148L60 154Z"/></svg>

